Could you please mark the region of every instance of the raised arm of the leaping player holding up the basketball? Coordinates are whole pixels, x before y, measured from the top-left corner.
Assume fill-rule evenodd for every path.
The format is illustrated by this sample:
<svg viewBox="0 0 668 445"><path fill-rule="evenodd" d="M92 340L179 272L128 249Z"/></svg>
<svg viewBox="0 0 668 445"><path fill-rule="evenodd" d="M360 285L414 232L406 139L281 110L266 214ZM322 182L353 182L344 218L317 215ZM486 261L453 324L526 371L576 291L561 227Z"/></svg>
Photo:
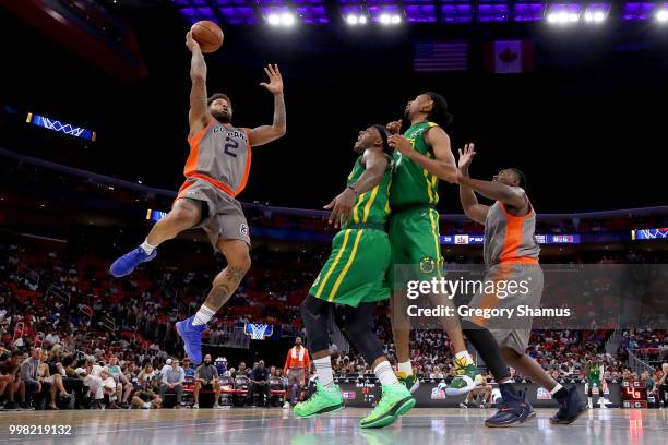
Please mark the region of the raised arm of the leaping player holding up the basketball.
<svg viewBox="0 0 668 445"><path fill-rule="evenodd" d="M206 62L200 49L200 44L192 38L192 32L186 34L186 45L192 57L190 59L190 80L192 87L190 88L190 112L188 121L190 122L190 134L195 135L204 127L208 124L210 115L206 104Z"/></svg>

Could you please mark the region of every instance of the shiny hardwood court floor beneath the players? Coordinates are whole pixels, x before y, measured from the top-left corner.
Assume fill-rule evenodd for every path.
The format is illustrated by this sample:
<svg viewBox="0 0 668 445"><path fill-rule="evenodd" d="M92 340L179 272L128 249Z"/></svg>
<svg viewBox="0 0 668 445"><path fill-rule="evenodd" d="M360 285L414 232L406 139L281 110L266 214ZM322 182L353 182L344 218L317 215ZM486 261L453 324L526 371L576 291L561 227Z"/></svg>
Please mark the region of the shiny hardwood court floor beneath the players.
<svg viewBox="0 0 668 445"><path fill-rule="evenodd" d="M289 410L162 409L0 412L8 444L289 444L289 445L607 445L668 444L668 410L592 410L571 425L550 425L552 409L533 421L488 429L491 409L414 409L394 425L361 430L367 409L347 408L314 419ZM11 435L10 425L71 425L68 436Z"/></svg>

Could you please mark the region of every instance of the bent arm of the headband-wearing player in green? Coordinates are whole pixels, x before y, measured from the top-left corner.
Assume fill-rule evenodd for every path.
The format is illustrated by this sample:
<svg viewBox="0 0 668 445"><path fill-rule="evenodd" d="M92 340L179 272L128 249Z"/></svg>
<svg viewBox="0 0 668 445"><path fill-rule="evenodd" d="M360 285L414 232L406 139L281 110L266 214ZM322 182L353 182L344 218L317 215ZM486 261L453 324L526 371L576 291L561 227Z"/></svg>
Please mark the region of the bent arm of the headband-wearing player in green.
<svg viewBox="0 0 668 445"><path fill-rule="evenodd" d="M357 196L378 185L390 166L384 154L371 151L365 152L362 163L365 163L365 171L359 179L354 184L346 187L330 204L324 206L327 211L332 209L330 224L334 224L334 227L341 227L350 219Z"/></svg>

